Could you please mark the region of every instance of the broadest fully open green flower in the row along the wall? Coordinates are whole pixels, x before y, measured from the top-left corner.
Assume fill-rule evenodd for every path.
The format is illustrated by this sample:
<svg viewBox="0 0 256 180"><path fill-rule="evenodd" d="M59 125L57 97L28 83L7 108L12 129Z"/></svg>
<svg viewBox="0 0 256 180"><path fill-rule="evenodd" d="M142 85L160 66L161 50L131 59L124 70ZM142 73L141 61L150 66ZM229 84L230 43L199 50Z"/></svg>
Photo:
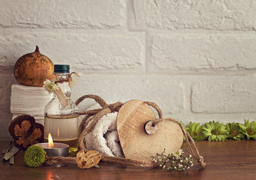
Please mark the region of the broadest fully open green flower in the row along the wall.
<svg viewBox="0 0 256 180"><path fill-rule="evenodd" d="M205 126L202 127L205 137L208 137L209 141L224 141L228 138L228 130L226 126L219 122L205 123Z"/></svg>

